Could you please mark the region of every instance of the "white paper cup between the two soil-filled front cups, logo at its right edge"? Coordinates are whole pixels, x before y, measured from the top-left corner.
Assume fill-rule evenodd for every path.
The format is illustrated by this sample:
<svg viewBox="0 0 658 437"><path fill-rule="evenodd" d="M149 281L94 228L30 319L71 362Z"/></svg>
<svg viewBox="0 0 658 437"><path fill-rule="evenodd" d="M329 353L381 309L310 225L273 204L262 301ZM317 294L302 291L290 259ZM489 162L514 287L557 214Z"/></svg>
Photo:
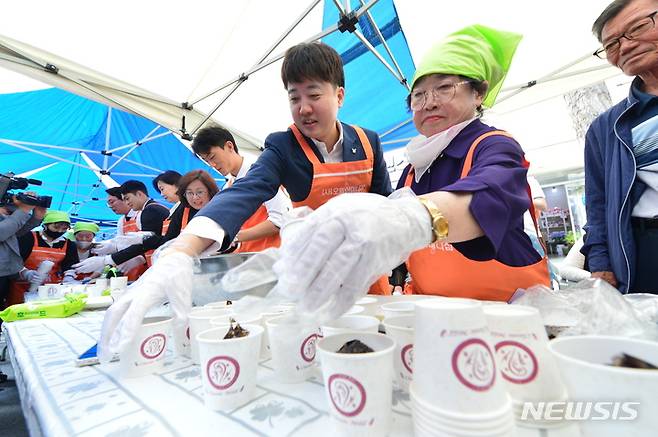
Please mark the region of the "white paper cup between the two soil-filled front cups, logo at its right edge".
<svg viewBox="0 0 658 437"><path fill-rule="evenodd" d="M303 382L313 375L319 328L291 324L288 316L267 321L272 367L277 380Z"/></svg>

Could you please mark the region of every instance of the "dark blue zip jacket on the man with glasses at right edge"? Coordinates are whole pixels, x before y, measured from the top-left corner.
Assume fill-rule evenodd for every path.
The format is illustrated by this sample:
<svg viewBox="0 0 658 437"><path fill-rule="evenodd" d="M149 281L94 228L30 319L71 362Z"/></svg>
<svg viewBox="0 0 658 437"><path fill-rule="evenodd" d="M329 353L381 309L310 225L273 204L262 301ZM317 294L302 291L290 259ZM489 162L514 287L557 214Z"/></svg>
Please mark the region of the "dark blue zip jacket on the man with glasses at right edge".
<svg viewBox="0 0 658 437"><path fill-rule="evenodd" d="M638 79L632 86L638 85ZM632 108L638 99L628 98L599 115L585 136L585 245L592 272L612 271L619 291L627 293L635 273L635 242L631 211L639 199L641 183L635 183L636 164L631 135Z"/></svg>

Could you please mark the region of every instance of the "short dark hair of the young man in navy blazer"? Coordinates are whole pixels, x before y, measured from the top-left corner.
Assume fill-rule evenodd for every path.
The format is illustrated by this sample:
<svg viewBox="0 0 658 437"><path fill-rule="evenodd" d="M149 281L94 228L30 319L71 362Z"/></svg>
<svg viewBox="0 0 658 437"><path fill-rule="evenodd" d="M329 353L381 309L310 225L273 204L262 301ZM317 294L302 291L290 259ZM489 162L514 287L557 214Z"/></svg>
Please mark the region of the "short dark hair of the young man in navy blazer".
<svg viewBox="0 0 658 437"><path fill-rule="evenodd" d="M336 50L321 42L297 44L286 51L281 65L283 87L290 82L320 80L336 87L345 86L343 60Z"/></svg>

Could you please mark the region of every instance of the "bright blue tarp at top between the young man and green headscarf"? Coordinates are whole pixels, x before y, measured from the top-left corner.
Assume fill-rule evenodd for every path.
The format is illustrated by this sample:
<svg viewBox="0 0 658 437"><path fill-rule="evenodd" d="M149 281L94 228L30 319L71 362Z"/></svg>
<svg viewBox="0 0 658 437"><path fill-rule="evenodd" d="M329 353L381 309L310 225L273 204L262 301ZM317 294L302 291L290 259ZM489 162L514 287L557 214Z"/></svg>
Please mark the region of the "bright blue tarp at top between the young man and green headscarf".
<svg viewBox="0 0 658 437"><path fill-rule="evenodd" d="M361 6L360 0L351 0L350 3L352 10ZM393 0L380 0L369 11L404 77L411 81L416 67L407 39L400 27ZM335 3L325 1L322 28L326 29L336 24L339 19ZM393 67L393 60L365 14L359 19L356 28ZM339 112L342 121L372 129L382 135L411 118L405 103L408 95L406 87L397 82L388 69L354 34L334 32L322 41L335 48L343 59L346 93L345 104ZM384 150L403 147L406 141L395 141L416 135L418 132L413 124L406 123L382 138Z"/></svg>

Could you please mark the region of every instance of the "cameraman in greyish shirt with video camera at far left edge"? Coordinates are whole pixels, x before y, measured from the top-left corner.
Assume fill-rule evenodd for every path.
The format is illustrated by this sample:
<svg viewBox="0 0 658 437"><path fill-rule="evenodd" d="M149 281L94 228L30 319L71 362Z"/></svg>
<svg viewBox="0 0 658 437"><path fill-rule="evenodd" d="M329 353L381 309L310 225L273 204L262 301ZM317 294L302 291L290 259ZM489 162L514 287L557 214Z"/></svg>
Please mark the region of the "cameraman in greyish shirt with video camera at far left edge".
<svg viewBox="0 0 658 437"><path fill-rule="evenodd" d="M26 194L34 195L34 193ZM29 235L33 228L39 226L46 214L46 208L27 205L16 196L12 201L11 207L0 206L0 308L7 306L6 300L11 281L17 279L18 273L24 270L18 237ZM35 278L34 274L27 276L39 279Z"/></svg>

